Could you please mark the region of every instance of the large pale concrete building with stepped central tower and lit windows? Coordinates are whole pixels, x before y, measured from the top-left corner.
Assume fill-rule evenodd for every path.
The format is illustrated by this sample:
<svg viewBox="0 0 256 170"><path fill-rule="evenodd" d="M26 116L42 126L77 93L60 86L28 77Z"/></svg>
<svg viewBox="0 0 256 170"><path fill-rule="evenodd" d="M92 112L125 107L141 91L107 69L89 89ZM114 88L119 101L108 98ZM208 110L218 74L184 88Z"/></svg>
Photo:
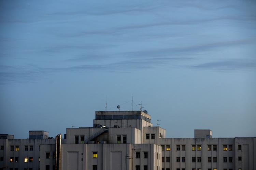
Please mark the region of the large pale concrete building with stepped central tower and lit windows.
<svg viewBox="0 0 256 170"><path fill-rule="evenodd" d="M40 132L31 135L39 138ZM256 138L212 138L211 130L195 130L195 138L166 138L166 130L142 111L99 111L93 127L67 128L62 139L31 138L0 139L0 170L256 169Z"/></svg>

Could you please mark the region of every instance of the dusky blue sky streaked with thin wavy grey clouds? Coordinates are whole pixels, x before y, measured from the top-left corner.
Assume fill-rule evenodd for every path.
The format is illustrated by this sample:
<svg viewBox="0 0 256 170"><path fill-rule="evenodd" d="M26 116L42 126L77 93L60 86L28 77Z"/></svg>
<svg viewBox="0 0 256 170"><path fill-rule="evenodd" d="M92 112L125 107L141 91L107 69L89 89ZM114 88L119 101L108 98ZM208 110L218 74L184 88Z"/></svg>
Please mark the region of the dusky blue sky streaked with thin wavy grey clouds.
<svg viewBox="0 0 256 170"><path fill-rule="evenodd" d="M0 1L0 134L139 110L167 137L256 137L256 2Z"/></svg>

